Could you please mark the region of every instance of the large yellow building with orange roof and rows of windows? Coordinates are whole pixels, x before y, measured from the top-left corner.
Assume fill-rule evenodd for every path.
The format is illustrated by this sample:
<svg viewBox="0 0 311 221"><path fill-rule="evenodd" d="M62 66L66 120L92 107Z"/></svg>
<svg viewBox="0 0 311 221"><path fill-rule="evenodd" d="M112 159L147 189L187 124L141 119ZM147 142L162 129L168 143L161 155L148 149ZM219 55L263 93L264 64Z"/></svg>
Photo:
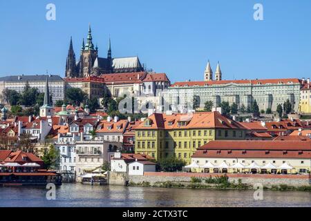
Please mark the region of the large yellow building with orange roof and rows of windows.
<svg viewBox="0 0 311 221"><path fill-rule="evenodd" d="M191 162L196 149L211 140L244 140L246 128L218 112L155 113L135 128L135 153L156 160L175 156Z"/></svg>

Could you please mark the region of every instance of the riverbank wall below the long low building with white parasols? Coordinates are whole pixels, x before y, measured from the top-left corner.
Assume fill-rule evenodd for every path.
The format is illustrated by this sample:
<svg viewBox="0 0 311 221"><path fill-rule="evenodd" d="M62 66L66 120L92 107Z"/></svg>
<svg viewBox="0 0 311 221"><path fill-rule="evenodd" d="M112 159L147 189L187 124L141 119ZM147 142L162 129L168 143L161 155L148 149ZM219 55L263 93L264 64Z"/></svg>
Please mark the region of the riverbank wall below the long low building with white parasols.
<svg viewBox="0 0 311 221"><path fill-rule="evenodd" d="M191 177L219 177L224 174L216 173L163 173L163 172L145 172L144 175L124 175L124 182L139 184L148 182L153 185L158 182L176 182L191 183ZM273 185L285 184L288 186L309 186L311 184L310 175L274 175L274 174L226 174L229 182L238 182L243 184L254 185L262 184L271 187ZM119 176L120 177L120 176ZM119 182L121 184L122 182Z"/></svg>

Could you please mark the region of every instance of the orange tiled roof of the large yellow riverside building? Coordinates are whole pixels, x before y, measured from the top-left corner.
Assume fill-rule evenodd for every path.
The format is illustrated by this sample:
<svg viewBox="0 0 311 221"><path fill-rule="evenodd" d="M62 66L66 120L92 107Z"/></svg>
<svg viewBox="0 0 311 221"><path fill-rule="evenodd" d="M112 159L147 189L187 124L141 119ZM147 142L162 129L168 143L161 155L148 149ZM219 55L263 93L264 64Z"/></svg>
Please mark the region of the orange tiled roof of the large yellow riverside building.
<svg viewBox="0 0 311 221"><path fill-rule="evenodd" d="M162 113L155 113L147 118L151 121L151 125L145 126L141 122L136 129L189 129L189 128L236 128L245 129L239 122L229 119L219 112L199 112L194 114L176 113L166 115ZM185 126L181 126L178 122L186 122Z"/></svg>

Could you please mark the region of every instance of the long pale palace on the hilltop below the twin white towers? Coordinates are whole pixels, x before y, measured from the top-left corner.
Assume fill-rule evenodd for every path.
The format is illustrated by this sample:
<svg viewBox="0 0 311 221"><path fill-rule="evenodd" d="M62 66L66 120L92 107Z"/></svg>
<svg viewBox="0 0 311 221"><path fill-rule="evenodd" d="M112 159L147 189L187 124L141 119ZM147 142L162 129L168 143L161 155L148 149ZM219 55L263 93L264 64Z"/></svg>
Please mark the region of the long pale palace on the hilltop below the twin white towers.
<svg viewBox="0 0 311 221"><path fill-rule="evenodd" d="M294 111L299 110L301 89L300 79L243 79L218 81L184 81L171 85L164 93L164 100L173 110L182 111L190 108L194 96L200 101L200 108L205 102L212 101L214 107L221 102L251 106L256 100L259 109L276 111L278 104L290 100Z"/></svg>

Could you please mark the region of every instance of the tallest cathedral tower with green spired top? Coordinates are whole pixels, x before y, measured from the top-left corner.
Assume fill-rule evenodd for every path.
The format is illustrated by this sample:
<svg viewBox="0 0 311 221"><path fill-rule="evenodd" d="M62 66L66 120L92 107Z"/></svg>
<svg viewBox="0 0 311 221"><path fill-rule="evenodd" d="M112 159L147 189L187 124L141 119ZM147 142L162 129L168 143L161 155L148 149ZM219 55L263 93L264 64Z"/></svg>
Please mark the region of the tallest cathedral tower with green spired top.
<svg viewBox="0 0 311 221"><path fill-rule="evenodd" d="M94 48L92 38L91 25L88 27L88 37L86 45L84 46L84 40L82 44L82 50L80 55L80 73L79 77L88 77L93 75L94 61L98 56L98 48Z"/></svg>

